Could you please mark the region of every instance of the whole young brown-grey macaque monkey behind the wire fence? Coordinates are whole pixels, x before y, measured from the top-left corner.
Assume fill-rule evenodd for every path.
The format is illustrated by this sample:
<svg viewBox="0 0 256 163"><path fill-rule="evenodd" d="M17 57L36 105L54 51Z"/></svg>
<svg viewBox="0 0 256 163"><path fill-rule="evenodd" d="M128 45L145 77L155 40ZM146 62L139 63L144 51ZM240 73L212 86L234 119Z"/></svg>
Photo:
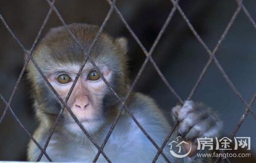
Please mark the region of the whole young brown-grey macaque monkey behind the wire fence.
<svg viewBox="0 0 256 163"><path fill-rule="evenodd" d="M97 26L86 24L71 24L68 28L86 51L99 30ZM127 89L130 87L127 77L126 51L127 41L125 38L114 39L101 33L91 53L104 78L121 98L126 96ZM35 49L33 57L48 81L65 100L81 64L86 59L81 47L65 27L53 28ZM34 137L41 146L44 146L63 105L32 62L29 63L27 71L33 88L36 118L40 122L38 129L34 132ZM92 135L96 143L101 146L121 104L88 60L67 106L76 115L85 130ZM138 92L132 93L126 106L159 147L172 130L171 126L177 121L179 122L177 131L170 141L180 135L185 140L194 143L197 137L215 137L219 136L221 132L222 122L216 114L204 105L193 101L186 101L183 106L173 108L174 122L172 122L174 124L170 124L168 119L172 120L171 116L165 117L153 99ZM203 161L201 160L203 158L195 156L175 158L169 150L170 146L167 144L163 152L173 162ZM186 149L184 150L186 151ZM103 151L112 162L151 162L157 153L157 149L126 111L121 114ZM40 149L30 142L28 160L35 161L40 152ZM92 162L98 149L89 141L65 109L46 152L53 161ZM41 161L48 161L48 159L43 156ZM101 154L98 161L106 162L106 159ZM157 162L166 162L166 160L160 155Z"/></svg>

